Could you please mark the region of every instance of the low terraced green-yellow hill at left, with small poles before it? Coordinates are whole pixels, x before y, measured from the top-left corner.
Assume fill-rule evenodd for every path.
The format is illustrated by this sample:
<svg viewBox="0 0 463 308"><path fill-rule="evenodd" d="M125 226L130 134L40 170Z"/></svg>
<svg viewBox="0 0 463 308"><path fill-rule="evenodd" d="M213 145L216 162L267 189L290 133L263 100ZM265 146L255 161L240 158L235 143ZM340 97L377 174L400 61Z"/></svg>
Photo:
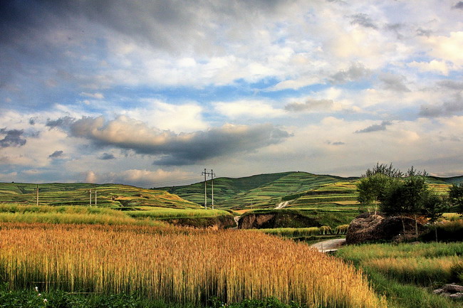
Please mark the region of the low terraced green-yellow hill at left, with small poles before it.
<svg viewBox="0 0 463 308"><path fill-rule="evenodd" d="M179 196L152 189L137 188L120 184L22 184L0 183L0 203L16 203L22 205L36 204L36 188L38 202L47 206L88 206L90 189L92 204L97 193L98 206L111 208L133 206L158 206L167 208L199 208L192 201Z"/></svg>

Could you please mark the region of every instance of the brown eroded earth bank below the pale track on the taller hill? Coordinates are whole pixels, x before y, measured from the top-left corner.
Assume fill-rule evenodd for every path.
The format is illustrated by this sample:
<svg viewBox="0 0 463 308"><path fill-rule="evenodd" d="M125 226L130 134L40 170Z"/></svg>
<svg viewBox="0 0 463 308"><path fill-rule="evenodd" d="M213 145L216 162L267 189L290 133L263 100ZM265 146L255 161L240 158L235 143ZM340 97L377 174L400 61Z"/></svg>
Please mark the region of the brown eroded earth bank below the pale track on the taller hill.
<svg viewBox="0 0 463 308"><path fill-rule="evenodd" d="M315 218L303 216L294 211L277 210L273 213L249 213L241 216L238 221L239 229L266 228L306 228L320 227Z"/></svg>

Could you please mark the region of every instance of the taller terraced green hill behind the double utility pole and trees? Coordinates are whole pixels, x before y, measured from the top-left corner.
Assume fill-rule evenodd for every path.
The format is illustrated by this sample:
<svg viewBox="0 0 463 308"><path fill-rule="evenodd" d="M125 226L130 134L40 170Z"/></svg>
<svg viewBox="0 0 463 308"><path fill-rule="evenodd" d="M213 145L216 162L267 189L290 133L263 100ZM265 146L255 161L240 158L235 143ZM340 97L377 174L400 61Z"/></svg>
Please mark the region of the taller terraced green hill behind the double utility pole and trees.
<svg viewBox="0 0 463 308"><path fill-rule="evenodd" d="M316 175L307 172L259 174L243 178L214 179L214 203L218 208L255 209L277 206L299 209L355 211L358 177ZM430 176L430 185L446 193L451 184L463 182L463 176L439 178ZM212 200L211 181L207 181L207 203ZM204 181L186 186L159 187L170 193L204 204Z"/></svg>

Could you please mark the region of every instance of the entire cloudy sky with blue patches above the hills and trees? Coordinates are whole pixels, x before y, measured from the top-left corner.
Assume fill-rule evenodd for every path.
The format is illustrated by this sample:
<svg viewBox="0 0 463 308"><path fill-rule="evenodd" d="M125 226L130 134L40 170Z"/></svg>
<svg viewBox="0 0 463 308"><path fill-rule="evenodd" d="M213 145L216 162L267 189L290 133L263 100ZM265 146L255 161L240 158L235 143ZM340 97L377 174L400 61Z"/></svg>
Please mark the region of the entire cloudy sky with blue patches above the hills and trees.
<svg viewBox="0 0 463 308"><path fill-rule="evenodd" d="M463 175L463 1L4 0L0 181Z"/></svg>

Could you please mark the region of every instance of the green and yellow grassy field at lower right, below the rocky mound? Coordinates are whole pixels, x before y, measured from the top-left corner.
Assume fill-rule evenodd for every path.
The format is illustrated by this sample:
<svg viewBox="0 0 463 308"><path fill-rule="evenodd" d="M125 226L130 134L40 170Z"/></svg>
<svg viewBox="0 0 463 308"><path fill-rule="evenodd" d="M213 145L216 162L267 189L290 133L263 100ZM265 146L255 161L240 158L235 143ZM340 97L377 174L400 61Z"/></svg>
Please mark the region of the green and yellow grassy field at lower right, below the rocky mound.
<svg viewBox="0 0 463 308"><path fill-rule="evenodd" d="M433 288L462 277L463 243L346 246L336 255L361 267L390 307L463 307L432 294Z"/></svg>

